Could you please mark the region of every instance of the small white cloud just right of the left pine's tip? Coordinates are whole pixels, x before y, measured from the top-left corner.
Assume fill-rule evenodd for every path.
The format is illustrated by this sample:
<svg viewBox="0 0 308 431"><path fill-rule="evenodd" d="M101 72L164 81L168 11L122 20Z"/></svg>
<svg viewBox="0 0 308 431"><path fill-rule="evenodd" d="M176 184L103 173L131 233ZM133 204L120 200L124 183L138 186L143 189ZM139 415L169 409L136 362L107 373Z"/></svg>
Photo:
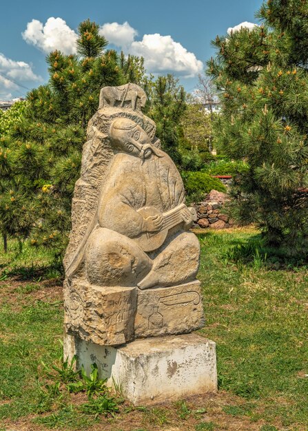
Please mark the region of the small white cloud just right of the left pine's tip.
<svg viewBox="0 0 308 431"><path fill-rule="evenodd" d="M123 24L105 23L101 25L99 34L105 36L107 41L121 48L128 48L135 39L138 32L130 26L127 21Z"/></svg>

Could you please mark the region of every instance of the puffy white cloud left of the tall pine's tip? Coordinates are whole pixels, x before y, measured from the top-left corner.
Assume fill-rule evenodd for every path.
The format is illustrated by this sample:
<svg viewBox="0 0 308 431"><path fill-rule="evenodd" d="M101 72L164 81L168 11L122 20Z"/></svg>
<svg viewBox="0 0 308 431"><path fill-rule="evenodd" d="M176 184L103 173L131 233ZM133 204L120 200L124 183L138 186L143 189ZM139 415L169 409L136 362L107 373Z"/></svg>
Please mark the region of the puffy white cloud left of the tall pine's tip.
<svg viewBox="0 0 308 431"><path fill-rule="evenodd" d="M63 54L76 53L77 34L62 18L50 17L45 25L32 19L22 36L27 43L46 54L54 50L60 50Z"/></svg>

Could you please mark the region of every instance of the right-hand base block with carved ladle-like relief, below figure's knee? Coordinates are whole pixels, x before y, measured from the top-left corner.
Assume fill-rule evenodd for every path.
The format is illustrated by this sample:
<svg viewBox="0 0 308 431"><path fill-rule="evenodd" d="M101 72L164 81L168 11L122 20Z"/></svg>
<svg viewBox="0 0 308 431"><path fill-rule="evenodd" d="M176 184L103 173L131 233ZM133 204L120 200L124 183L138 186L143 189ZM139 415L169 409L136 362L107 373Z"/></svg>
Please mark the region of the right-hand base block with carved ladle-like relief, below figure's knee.
<svg viewBox="0 0 308 431"><path fill-rule="evenodd" d="M135 336L190 333L204 326L200 282L138 292Z"/></svg>

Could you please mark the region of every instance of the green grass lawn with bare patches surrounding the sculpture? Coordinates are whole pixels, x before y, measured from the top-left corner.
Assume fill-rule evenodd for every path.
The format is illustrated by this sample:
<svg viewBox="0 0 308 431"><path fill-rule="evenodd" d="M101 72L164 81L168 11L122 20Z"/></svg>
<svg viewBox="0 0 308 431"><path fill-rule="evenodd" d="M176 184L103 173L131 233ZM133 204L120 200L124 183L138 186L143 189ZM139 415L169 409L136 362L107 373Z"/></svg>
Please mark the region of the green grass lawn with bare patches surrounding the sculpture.
<svg viewBox="0 0 308 431"><path fill-rule="evenodd" d="M216 341L219 392L154 408L52 389L41 361L52 368L61 354L59 273L50 280L50 253L25 244L19 255L10 244L0 255L0 430L307 431L307 267L265 251L254 229L199 238L199 333ZM105 406L114 417L100 413Z"/></svg>

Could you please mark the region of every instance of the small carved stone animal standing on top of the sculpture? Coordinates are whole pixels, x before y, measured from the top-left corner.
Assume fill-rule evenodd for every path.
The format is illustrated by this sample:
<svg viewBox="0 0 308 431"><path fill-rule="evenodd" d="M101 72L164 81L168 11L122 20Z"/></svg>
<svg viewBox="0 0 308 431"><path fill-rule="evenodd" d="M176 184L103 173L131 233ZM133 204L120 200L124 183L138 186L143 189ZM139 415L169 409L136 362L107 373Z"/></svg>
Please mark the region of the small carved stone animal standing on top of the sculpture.
<svg viewBox="0 0 308 431"><path fill-rule="evenodd" d="M144 107L147 95L136 84L127 83L119 87L103 87L99 94L99 109L106 106L125 107L125 102L130 101L132 110L136 111L138 98L140 99L140 107Z"/></svg>

